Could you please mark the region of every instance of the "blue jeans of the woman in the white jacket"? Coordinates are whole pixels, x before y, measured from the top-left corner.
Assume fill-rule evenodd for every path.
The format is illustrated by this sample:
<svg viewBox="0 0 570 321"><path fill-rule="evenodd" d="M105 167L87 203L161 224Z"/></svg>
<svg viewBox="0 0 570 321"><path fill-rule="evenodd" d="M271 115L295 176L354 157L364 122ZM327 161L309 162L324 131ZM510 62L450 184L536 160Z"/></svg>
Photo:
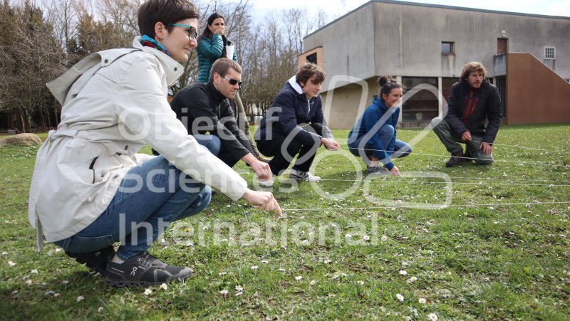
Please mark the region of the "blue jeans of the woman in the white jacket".
<svg viewBox="0 0 570 321"><path fill-rule="evenodd" d="M102 214L76 235L55 242L70 252L92 252L121 242L123 260L147 251L173 221L198 214L212 197L162 156L130 169Z"/></svg>

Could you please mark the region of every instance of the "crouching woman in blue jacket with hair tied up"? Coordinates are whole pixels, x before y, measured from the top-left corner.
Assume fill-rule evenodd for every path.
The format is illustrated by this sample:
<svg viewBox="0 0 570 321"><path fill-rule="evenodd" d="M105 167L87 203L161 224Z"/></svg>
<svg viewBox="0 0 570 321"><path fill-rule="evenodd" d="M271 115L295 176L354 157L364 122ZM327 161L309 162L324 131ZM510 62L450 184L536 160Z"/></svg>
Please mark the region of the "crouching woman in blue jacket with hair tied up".
<svg viewBox="0 0 570 321"><path fill-rule="evenodd" d="M372 105L348 134L348 148L354 155L362 157L368 173L400 176L392 159L412 152L410 144L396 139L402 84L386 76L378 78L378 83L380 97L373 99Z"/></svg>

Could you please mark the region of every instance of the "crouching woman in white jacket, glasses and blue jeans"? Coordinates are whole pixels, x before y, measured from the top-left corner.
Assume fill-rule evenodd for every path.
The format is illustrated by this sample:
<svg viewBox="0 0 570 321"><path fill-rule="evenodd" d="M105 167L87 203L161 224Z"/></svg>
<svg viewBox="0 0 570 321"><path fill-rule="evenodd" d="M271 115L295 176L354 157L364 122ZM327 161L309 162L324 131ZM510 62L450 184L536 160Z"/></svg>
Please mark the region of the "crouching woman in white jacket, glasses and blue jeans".
<svg viewBox="0 0 570 321"><path fill-rule="evenodd" d="M111 285L190 276L147 249L169 223L209 204L209 186L281 216L271 193L249 190L187 135L168 105L167 86L183 71L178 62L197 46L197 18L186 0L149 0L138 11L142 37L133 48L95 53L48 84L63 105L61 123L38 151L29 219L40 246L43 230ZM137 154L145 144L162 156Z"/></svg>

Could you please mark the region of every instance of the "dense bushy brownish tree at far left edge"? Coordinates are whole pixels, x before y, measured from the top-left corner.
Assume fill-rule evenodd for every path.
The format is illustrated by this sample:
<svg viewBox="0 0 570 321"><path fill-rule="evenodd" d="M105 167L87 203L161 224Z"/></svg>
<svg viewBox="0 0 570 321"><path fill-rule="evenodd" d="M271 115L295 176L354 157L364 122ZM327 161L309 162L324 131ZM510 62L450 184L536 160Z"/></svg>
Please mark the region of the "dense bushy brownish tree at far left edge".
<svg viewBox="0 0 570 321"><path fill-rule="evenodd" d="M44 84L61 71L62 51L53 27L43 19L43 11L29 1L11 7L5 0L0 20L3 32L11 31L10 36L2 35L0 40L1 108L15 115L16 128L21 131L31 131L34 115L45 130L53 98Z"/></svg>

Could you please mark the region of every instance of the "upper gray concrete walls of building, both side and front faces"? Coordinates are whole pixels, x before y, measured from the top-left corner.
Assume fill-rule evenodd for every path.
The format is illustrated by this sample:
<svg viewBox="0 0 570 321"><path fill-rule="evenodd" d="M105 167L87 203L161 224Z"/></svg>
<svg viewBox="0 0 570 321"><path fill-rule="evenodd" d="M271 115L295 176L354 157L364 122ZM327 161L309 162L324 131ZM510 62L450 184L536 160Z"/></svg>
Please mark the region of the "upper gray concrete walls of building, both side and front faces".
<svg viewBox="0 0 570 321"><path fill-rule="evenodd" d="M324 88L335 75L458 77L473 60L493 77L503 30L509 52L546 61L544 46L556 47L556 60L546 65L570 78L570 19L564 18L375 0L306 36L304 46L323 47ZM455 55L441 54L442 41L455 42Z"/></svg>

